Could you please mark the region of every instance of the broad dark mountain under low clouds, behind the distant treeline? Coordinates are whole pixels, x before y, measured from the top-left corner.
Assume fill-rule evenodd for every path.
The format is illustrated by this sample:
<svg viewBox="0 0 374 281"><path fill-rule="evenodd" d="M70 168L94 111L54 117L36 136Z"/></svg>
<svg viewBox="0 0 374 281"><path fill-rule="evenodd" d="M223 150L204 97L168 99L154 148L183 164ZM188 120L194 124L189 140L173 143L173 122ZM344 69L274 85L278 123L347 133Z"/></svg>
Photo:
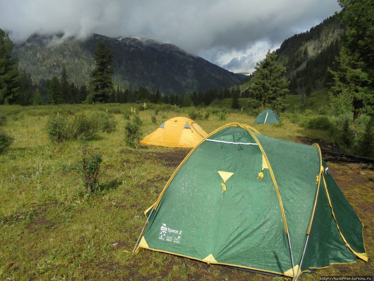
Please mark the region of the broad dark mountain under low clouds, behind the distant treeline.
<svg viewBox="0 0 374 281"><path fill-rule="evenodd" d="M63 34L42 36L33 34L27 42L14 46L19 67L39 81L59 77L62 65L69 79L77 85L88 83L95 67L93 53L97 42L113 49L114 85L122 88L143 86L165 94L185 94L211 88L229 88L245 78L178 46L136 36L111 38L92 34L85 40L63 39Z"/></svg>

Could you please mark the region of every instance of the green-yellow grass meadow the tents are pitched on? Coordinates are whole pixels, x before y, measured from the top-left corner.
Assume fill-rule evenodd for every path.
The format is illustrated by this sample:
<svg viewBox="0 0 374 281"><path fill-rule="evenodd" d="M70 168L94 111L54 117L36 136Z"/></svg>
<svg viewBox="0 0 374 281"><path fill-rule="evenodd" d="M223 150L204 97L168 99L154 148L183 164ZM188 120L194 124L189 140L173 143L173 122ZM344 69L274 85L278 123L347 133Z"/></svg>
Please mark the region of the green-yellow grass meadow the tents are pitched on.
<svg viewBox="0 0 374 281"><path fill-rule="evenodd" d="M189 149L125 145L124 115L131 106L142 120L142 136L191 110L208 112L195 120L207 133L229 122L249 124L262 134L287 141L331 136L283 120L282 126L253 124L246 112L212 108L181 109L147 105L0 106L2 126L15 142L0 155L0 280L282 280L246 271L210 266L170 254L132 251L145 223L143 211L153 204ZM88 142L52 143L45 124L56 112L105 112L117 120L112 133ZM223 114L223 115L222 115ZM151 117L156 117L156 123ZM226 120L223 120L226 117ZM86 194L80 168L82 148L101 152L101 191ZM365 245L373 259L374 207L372 167L331 163L332 175L365 224ZM373 275L372 263L359 260L331 265L300 280L322 275Z"/></svg>

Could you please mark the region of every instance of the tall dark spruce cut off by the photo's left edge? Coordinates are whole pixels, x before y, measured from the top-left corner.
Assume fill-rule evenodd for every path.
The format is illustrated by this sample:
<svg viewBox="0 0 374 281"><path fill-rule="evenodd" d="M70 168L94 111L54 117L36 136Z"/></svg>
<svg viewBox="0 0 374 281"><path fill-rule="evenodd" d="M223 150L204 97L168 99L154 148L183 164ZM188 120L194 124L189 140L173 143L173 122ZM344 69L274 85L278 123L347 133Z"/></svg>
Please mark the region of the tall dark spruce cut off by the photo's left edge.
<svg viewBox="0 0 374 281"><path fill-rule="evenodd" d="M0 28L0 105L12 103L19 91L18 61L11 57L13 43Z"/></svg>

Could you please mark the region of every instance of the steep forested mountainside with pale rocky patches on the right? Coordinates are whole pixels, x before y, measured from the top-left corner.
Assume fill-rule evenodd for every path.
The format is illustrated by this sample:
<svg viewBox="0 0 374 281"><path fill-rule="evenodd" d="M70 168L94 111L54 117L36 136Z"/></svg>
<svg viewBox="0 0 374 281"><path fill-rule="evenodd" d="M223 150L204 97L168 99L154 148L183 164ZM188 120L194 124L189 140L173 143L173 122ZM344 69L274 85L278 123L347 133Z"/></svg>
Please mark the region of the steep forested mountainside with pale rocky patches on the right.
<svg viewBox="0 0 374 281"><path fill-rule="evenodd" d="M291 94L320 90L332 82L327 68L336 68L333 62L339 55L339 42L345 31L340 20L340 14L330 16L310 30L284 40L275 51L277 63L286 67ZM242 91L253 79L249 75L241 82Z"/></svg>

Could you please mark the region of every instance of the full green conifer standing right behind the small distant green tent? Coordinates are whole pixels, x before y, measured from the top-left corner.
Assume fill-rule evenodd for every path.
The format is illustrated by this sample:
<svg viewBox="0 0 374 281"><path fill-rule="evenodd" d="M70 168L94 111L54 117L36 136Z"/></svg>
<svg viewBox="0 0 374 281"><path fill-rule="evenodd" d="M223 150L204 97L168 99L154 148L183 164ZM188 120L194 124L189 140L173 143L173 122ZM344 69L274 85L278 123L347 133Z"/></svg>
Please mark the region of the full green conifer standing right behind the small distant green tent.
<svg viewBox="0 0 374 281"><path fill-rule="evenodd" d="M252 105L258 108L264 105L271 109L285 106L285 96L289 93L287 89L289 82L283 77L286 68L275 62L275 52L267 52L264 60L256 63L255 80L249 89Z"/></svg>

